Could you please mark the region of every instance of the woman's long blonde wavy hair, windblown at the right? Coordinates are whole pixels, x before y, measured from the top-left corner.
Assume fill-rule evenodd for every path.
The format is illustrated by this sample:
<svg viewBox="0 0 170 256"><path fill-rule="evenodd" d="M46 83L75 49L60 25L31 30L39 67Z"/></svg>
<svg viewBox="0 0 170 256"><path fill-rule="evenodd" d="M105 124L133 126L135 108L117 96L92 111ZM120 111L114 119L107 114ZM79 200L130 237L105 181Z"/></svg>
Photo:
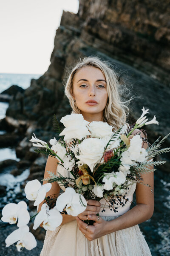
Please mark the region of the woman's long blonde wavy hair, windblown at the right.
<svg viewBox="0 0 170 256"><path fill-rule="evenodd" d="M127 124L126 119L127 115L129 115L129 108L127 105L130 103L132 97L126 101L122 101L122 96L125 95L127 98L127 95L130 94L130 90L127 89L124 83L121 84L121 81L119 82L119 76L114 71L111 63L106 60L102 61L97 56L80 57L77 63L75 63L71 68L71 71L68 71L66 83L63 81L65 86L65 95L71 105L72 113L81 113L72 97L73 79L76 72L85 66L94 66L99 68L105 75L108 102L105 106L104 115L101 121L107 122L113 126L115 130L119 129L123 124Z"/></svg>

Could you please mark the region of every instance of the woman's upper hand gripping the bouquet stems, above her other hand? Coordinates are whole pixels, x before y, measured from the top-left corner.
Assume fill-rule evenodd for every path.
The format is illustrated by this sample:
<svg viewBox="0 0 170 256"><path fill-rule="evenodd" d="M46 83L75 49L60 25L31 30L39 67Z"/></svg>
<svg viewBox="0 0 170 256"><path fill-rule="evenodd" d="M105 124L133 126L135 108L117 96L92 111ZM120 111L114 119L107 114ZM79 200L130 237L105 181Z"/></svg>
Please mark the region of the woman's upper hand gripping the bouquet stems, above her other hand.
<svg viewBox="0 0 170 256"><path fill-rule="evenodd" d="M96 215L97 213L99 213L100 206L101 206L101 204L96 200L89 199L87 201L88 201L88 204L85 211L78 215L79 219L84 221L87 220L88 214Z"/></svg>

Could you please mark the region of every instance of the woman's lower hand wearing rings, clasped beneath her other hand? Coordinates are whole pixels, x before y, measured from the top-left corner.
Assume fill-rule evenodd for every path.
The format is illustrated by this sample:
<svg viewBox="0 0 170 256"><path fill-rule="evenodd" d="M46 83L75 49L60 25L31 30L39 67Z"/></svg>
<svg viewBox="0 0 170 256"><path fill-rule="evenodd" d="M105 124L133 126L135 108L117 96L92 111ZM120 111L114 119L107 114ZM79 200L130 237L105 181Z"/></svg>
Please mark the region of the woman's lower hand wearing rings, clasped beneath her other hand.
<svg viewBox="0 0 170 256"><path fill-rule="evenodd" d="M88 225L85 222L81 221L81 219L79 219L78 216L76 216L79 230L83 233L83 235L85 234L85 237L88 239L88 241L92 241L96 238L99 238L101 236L105 236L106 234L108 234L109 221L105 221L100 216L98 220L98 216L96 215L88 215L88 219L94 220L95 221L94 224ZM86 229L87 225L88 225L88 228Z"/></svg>

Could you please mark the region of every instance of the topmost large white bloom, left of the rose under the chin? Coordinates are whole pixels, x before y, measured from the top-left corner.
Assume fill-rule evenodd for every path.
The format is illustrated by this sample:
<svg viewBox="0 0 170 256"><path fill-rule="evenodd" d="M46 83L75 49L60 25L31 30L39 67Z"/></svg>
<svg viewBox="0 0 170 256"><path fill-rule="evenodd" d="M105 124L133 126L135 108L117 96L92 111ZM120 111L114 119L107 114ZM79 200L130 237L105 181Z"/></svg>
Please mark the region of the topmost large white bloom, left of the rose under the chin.
<svg viewBox="0 0 170 256"><path fill-rule="evenodd" d="M81 140L87 135L91 135L88 128L86 127L88 121L83 119L82 114L66 115L61 118L60 122L64 124L65 128L59 135L65 135L65 141L69 141L73 138Z"/></svg>

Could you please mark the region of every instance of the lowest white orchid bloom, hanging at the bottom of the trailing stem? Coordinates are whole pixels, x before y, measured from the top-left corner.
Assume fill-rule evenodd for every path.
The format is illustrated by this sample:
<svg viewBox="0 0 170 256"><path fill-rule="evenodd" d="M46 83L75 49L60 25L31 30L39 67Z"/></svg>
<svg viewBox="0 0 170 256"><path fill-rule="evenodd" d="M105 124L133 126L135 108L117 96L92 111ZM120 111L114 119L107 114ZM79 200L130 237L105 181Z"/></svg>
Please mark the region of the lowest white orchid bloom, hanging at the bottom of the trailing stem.
<svg viewBox="0 0 170 256"><path fill-rule="evenodd" d="M26 225L19 227L17 230L14 230L10 235L7 236L5 242L6 247L9 247L11 244L17 242L16 247L19 252L21 247L25 247L27 250L31 250L37 246L37 241L34 235L29 232L29 227Z"/></svg>

